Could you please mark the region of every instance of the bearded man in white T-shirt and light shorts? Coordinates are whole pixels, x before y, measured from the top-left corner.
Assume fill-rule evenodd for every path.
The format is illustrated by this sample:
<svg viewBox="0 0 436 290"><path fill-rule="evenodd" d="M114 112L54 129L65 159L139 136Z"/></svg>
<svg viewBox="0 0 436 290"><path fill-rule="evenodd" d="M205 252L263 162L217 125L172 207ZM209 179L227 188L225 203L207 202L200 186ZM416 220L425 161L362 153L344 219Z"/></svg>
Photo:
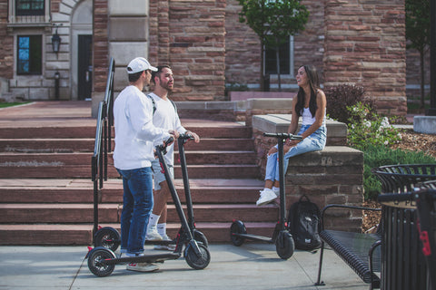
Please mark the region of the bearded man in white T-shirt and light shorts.
<svg viewBox="0 0 436 290"><path fill-rule="evenodd" d="M152 73L152 81L154 82L154 91L147 96L154 103L154 126L166 130L178 131L179 133L189 133L193 136L195 142L199 142L200 138L193 132L186 131L183 128L179 115L175 109L174 103L168 98L169 92L173 92L173 71L169 65L157 66L157 72ZM174 178L173 171L173 144L167 148L167 153L164 159L168 165L169 173ZM154 208L150 215L150 220L147 228L146 240L171 240L166 235L166 216L167 216L167 200L171 196L170 189L166 183L165 176L162 172L159 160L152 162L153 177L154 177ZM155 249L174 250L174 245L155 246Z"/></svg>

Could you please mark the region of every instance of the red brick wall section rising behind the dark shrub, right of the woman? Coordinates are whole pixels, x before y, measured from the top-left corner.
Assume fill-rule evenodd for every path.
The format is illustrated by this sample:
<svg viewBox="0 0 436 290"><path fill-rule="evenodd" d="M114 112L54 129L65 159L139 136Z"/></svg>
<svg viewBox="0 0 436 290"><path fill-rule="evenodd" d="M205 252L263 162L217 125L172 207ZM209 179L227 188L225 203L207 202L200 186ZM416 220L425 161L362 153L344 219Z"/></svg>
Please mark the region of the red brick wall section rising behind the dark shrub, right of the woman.
<svg viewBox="0 0 436 290"><path fill-rule="evenodd" d="M324 9L324 85L356 83L380 111L405 114L404 1L326 1Z"/></svg>

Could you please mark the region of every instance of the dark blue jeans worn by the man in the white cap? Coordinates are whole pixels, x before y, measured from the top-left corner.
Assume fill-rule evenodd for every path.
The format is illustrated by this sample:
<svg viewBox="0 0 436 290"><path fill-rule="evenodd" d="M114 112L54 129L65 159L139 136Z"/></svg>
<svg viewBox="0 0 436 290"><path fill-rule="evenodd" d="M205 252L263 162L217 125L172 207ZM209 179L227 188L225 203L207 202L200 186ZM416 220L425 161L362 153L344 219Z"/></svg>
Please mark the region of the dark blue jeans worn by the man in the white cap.
<svg viewBox="0 0 436 290"><path fill-rule="evenodd" d="M144 252L145 232L153 209L153 178L150 167L117 169L123 177L121 249L131 254Z"/></svg>

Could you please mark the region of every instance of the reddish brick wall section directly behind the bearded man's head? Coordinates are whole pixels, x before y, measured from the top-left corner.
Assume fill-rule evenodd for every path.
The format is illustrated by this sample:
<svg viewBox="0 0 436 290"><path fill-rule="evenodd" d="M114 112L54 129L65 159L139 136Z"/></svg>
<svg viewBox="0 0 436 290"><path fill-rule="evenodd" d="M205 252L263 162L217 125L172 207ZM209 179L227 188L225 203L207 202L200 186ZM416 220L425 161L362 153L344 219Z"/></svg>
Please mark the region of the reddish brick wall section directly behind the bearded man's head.
<svg viewBox="0 0 436 290"><path fill-rule="evenodd" d="M173 67L173 100L223 101L225 0L151 0L150 17L150 58Z"/></svg>

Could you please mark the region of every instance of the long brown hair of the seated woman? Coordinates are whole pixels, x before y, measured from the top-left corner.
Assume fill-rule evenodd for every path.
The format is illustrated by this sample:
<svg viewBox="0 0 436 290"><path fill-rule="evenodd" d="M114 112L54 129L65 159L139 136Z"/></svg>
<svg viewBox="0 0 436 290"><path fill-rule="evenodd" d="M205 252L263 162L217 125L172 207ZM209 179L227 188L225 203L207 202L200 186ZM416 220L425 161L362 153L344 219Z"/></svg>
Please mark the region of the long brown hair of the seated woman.
<svg viewBox="0 0 436 290"><path fill-rule="evenodd" d="M318 106L316 105L316 91L320 88L320 79L318 78L318 72L313 65L302 65L299 69L301 67L304 67L311 88L309 111L311 111L312 117L315 117L316 109L318 109ZM304 90L300 87L297 93L297 103L295 104L295 111L299 117L302 115L302 108L304 108Z"/></svg>

